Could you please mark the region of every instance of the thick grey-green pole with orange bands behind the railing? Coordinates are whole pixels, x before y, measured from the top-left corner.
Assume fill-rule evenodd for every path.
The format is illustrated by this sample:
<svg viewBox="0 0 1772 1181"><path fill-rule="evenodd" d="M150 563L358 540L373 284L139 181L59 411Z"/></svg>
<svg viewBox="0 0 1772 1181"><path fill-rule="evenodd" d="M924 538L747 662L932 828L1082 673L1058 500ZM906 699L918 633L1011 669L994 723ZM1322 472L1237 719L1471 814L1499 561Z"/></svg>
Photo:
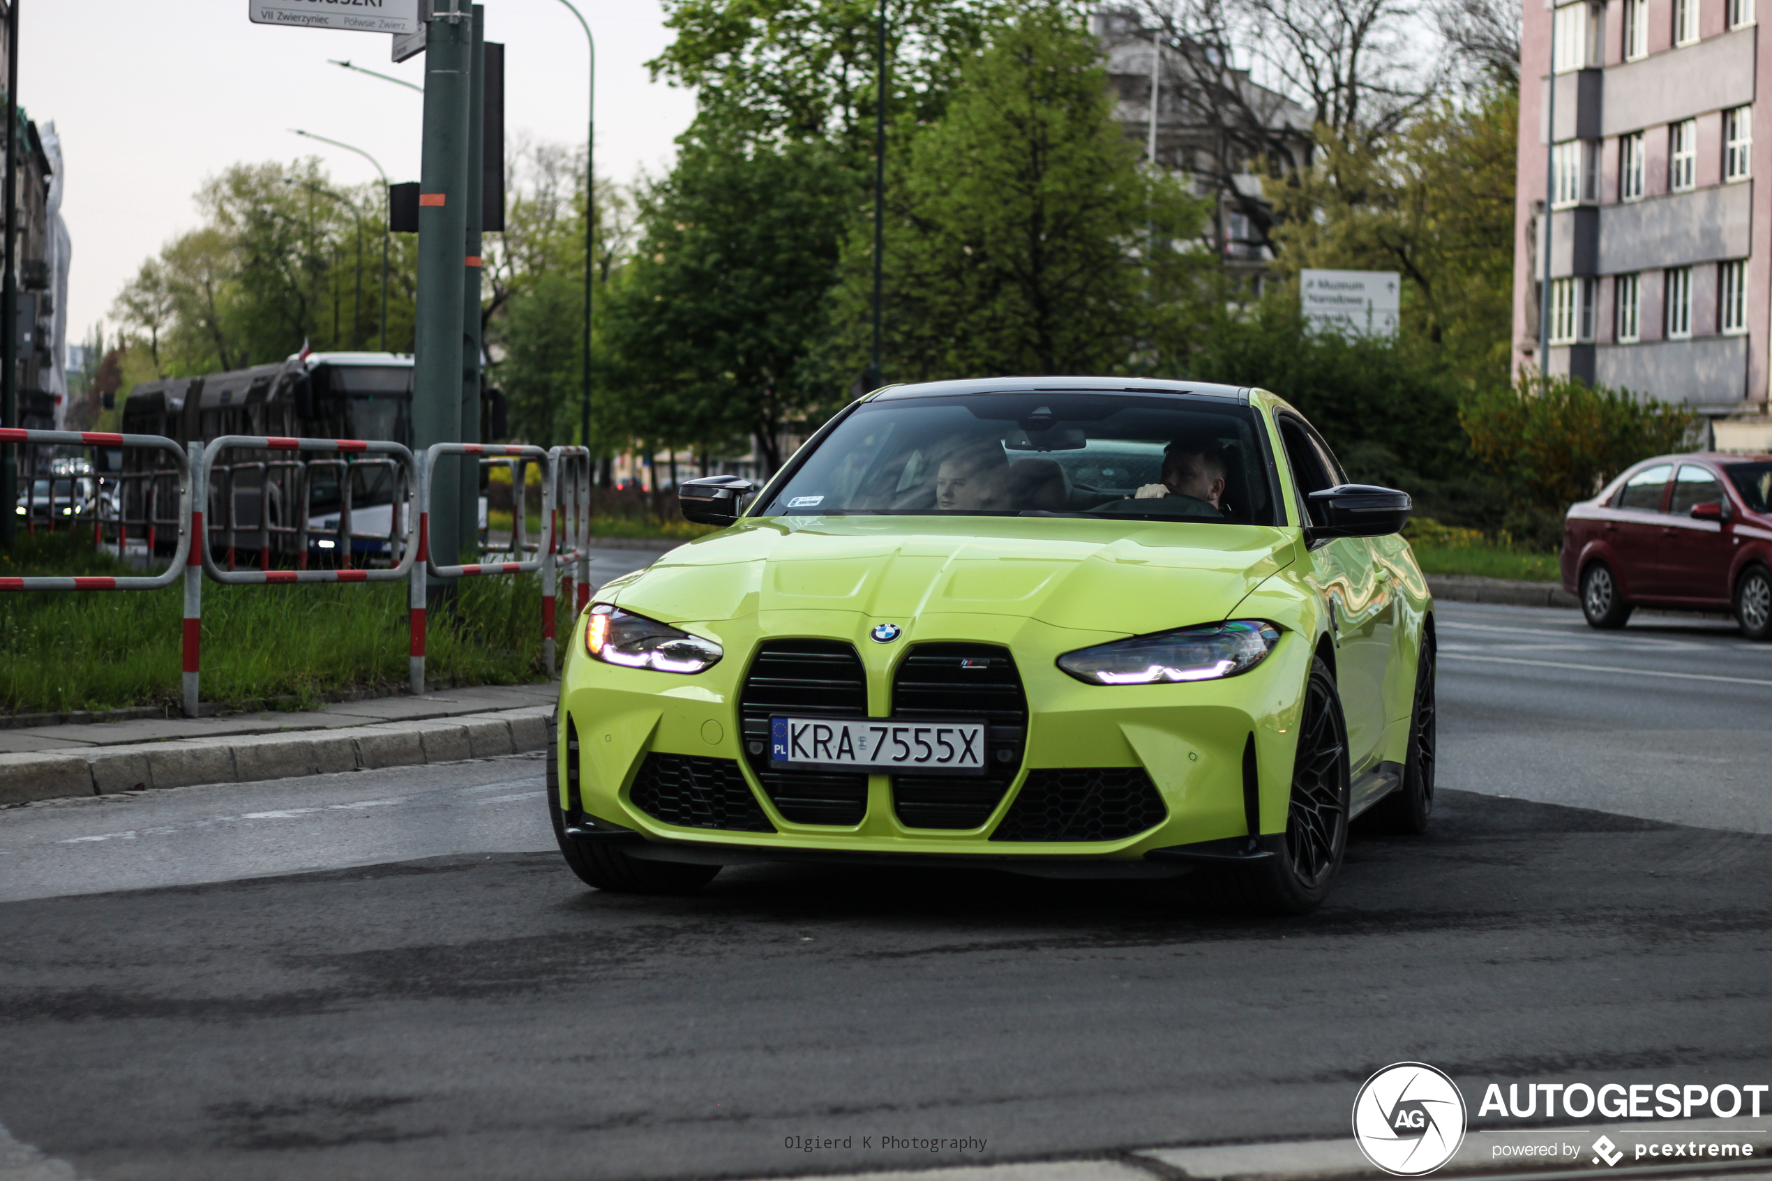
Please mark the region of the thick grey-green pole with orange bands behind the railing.
<svg viewBox="0 0 1772 1181"><path fill-rule="evenodd" d="M462 243L468 235L468 112L473 14L462 0L436 0L425 32L425 129L418 186L418 324L413 345L413 450L461 436ZM431 552L455 565L461 542L459 462L431 476ZM447 593L434 581L432 606Z"/></svg>

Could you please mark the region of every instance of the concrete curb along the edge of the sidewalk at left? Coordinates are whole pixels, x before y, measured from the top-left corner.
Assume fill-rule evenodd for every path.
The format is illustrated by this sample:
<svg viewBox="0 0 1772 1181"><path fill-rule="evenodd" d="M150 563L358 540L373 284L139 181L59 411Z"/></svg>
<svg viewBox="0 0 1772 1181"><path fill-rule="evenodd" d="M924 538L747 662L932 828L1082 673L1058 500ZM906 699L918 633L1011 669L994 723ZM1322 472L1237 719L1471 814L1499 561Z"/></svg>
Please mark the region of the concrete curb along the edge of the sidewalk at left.
<svg viewBox="0 0 1772 1181"><path fill-rule="evenodd" d="M0 754L0 804L454 763L548 747L553 706L269 735Z"/></svg>

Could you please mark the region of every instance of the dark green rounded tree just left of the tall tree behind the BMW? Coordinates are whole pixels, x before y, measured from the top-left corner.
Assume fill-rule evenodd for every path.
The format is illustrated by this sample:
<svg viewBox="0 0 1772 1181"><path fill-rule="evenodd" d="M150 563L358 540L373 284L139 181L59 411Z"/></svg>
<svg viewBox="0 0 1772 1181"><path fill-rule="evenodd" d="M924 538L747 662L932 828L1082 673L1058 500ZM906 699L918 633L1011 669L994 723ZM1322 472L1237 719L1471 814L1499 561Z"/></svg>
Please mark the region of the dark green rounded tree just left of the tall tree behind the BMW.
<svg viewBox="0 0 1772 1181"><path fill-rule="evenodd" d="M610 381L633 437L703 455L750 437L780 467L783 428L826 400L808 356L851 195L824 143L686 138L641 202L643 237L608 301Z"/></svg>

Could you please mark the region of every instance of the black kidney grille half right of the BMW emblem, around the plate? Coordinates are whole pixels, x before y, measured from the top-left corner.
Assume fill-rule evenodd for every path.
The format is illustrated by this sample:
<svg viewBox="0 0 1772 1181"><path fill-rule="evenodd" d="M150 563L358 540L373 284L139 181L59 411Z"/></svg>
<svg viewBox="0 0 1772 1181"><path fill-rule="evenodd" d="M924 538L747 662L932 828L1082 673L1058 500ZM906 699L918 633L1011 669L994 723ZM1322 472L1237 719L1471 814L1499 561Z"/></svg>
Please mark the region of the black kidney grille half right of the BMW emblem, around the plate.
<svg viewBox="0 0 1772 1181"><path fill-rule="evenodd" d="M907 829L976 829L996 811L1021 768L1028 742L1028 698L1008 648L918 645L898 664L891 714L905 721L985 721L985 774L893 776L891 799Z"/></svg>

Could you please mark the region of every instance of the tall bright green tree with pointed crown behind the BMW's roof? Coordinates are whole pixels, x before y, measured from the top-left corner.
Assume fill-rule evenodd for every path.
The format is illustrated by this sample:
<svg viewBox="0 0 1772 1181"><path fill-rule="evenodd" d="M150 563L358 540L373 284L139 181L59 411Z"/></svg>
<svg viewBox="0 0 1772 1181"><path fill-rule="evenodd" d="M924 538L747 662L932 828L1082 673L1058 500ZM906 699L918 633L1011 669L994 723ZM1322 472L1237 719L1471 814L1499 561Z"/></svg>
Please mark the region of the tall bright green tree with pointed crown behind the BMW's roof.
<svg viewBox="0 0 1772 1181"><path fill-rule="evenodd" d="M904 126L904 124L900 124ZM1203 205L1139 168L1100 50L1065 7L1033 5L968 58L941 122L893 158L886 377L1173 368L1209 262ZM838 365L872 342L872 227L845 251ZM1161 345L1161 347L1157 347Z"/></svg>

